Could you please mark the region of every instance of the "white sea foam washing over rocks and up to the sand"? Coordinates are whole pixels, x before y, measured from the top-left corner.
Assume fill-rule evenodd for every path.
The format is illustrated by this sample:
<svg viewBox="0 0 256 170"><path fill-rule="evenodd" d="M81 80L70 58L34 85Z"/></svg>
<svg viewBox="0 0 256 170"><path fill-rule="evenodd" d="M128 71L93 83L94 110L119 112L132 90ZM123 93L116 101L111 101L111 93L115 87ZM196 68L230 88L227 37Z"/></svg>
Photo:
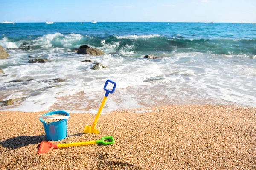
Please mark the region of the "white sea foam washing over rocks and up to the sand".
<svg viewBox="0 0 256 170"><path fill-rule="evenodd" d="M69 36L67 40L65 36ZM238 104L256 106L255 67L252 60L236 57L193 53L163 54L167 57L143 59L133 57L133 45L126 45L122 55L88 56L67 53L64 46L80 34L48 34L34 43L47 47L41 51L10 51L11 57L0 60L10 65L2 70L8 75L0 77L0 100L27 97L0 110L44 111L67 110L70 113L96 113L105 91L107 79L116 82L116 91L110 94L102 113L117 109L143 108L164 104ZM45 42L44 42L45 40ZM54 45L60 44L58 47ZM115 51L119 43L108 45L103 40L104 52ZM52 47L52 48L50 48ZM27 63L28 55L50 59L47 63ZM129 54L130 53L130 54ZM131 55L131 57L127 57ZM90 59L108 66L91 70ZM62 78L65 82L45 80ZM35 79L29 82L10 82ZM14 106L14 107L13 107Z"/></svg>

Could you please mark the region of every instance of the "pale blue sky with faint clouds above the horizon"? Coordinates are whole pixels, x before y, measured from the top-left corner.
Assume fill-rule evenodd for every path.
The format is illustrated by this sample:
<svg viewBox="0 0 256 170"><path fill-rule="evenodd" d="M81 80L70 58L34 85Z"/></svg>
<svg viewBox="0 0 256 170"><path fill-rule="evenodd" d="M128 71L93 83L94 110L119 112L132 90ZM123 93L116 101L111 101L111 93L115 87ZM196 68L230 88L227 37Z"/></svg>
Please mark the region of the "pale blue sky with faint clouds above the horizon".
<svg viewBox="0 0 256 170"><path fill-rule="evenodd" d="M256 0L0 0L0 22L256 23Z"/></svg>

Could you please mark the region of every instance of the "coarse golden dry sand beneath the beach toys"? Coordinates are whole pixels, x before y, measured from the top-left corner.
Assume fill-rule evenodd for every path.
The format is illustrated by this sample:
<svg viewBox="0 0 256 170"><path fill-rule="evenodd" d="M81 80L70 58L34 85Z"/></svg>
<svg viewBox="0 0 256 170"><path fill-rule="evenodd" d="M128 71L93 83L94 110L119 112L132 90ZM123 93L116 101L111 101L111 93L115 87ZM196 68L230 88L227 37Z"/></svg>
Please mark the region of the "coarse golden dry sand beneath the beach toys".
<svg viewBox="0 0 256 170"><path fill-rule="evenodd" d="M99 117L99 134L82 134L95 115L70 114L68 137L53 143L113 136L113 145L54 149L37 154L45 141L38 115L0 112L1 169L255 169L256 108L170 105L143 112L113 111Z"/></svg>

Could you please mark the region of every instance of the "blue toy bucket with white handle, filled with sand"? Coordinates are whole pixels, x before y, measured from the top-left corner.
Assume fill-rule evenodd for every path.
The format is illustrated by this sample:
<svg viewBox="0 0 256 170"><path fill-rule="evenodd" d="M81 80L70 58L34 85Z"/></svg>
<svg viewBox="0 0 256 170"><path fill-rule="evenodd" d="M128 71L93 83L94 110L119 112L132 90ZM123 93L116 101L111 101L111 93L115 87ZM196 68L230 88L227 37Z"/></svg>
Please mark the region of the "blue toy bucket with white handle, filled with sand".
<svg viewBox="0 0 256 170"><path fill-rule="evenodd" d="M52 114L61 114L65 116L49 116ZM47 140L58 141L67 137L67 119L70 118L69 114L65 111L52 111L38 116L39 120L44 125L44 131ZM61 119L56 122L47 124L43 119Z"/></svg>

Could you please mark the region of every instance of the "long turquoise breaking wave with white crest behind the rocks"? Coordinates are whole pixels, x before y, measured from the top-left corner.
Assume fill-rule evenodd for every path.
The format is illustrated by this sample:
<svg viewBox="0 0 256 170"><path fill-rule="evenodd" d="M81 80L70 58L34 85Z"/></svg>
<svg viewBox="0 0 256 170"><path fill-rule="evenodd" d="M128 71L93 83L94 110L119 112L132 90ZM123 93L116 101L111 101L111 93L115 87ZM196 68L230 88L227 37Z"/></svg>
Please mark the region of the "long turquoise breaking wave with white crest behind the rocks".
<svg viewBox="0 0 256 170"><path fill-rule="evenodd" d="M122 56L138 57L143 54L163 53L190 53L201 52L221 55L244 55L251 57L256 54L256 39L185 39L180 34L177 37L168 37L159 34L150 35L81 35L81 34L45 34L41 37L26 37L23 40L9 39L3 36L0 45L6 49L19 48L29 45L37 50L49 48L79 48L80 45L89 45L99 48L105 53L118 52ZM33 39L34 38L34 39ZM137 55L138 54L138 55Z"/></svg>

